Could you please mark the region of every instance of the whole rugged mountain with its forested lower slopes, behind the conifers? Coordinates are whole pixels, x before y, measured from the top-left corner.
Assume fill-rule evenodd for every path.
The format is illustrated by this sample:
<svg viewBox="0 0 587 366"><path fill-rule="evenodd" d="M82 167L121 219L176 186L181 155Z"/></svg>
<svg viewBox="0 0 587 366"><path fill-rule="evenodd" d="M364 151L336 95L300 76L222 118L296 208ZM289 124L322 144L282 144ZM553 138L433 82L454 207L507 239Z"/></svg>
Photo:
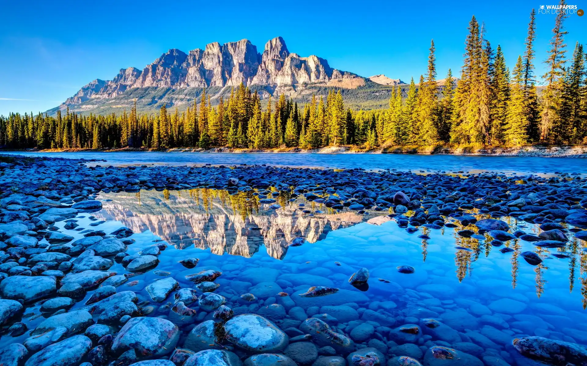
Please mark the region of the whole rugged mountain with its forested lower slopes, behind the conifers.
<svg viewBox="0 0 587 366"><path fill-rule="evenodd" d="M75 112L121 111L130 108L134 100L139 111L153 111L163 103L167 107L191 103L204 88L212 94L215 104L241 83L257 90L262 98L285 94L298 102L309 100L312 94L326 95L333 89L355 90L346 93L351 103L375 102L377 106L387 103L388 86L397 85L389 81L402 83L383 75L364 78L333 69L328 61L315 55L301 57L289 52L282 37L269 40L262 53L249 40L242 39L224 45L210 43L204 50L189 53L170 49L143 70L129 67L120 69L112 80L93 80L48 113L56 114L58 109L68 107Z"/></svg>

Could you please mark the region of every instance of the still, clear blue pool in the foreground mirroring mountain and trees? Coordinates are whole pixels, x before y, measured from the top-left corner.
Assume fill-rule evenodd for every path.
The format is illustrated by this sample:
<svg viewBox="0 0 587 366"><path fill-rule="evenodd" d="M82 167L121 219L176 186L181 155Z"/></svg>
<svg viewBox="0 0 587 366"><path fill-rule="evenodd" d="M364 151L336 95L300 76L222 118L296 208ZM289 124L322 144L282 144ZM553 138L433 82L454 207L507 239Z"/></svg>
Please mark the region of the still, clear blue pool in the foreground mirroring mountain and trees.
<svg viewBox="0 0 587 366"><path fill-rule="evenodd" d="M269 317L263 313L264 306L293 301L312 316L323 313L322 306L351 303L356 311L340 314L350 320L339 319L338 329L346 333L355 325L355 314L392 329L433 318L465 334L469 340L457 346L463 351L466 348L487 366L494 363L487 355L485 360L483 354L475 354L478 347L471 343L485 353L491 350L491 357L510 365L529 365L511 347L515 337L537 335L587 344L583 327L587 321L587 253L582 250L585 242L572 235L568 235L568 245L559 249L508 241L505 246L517 252L502 254L500 248L488 244L489 237L458 236L456 231L463 228L460 224L441 230L420 227L409 234L394 221L380 225L364 222L383 217L386 211L369 211L363 216L346 210L335 213L302 198L290 202L288 197L278 197L278 203L284 206L278 210L259 204L254 196L230 196L210 189L101 193L98 199L103 200L103 209L80 215L79 228L106 233L121 226L131 228L136 233L131 238L136 242L127 250L130 255L155 241L169 244L155 269L133 276L117 288L118 292L137 292L139 302L150 300L144 288L155 279L173 276L182 288L193 287L185 275L216 269L222 275L215 281L220 284L215 292L227 297L235 313ZM300 207L301 203L306 206ZM312 213L303 213L305 209ZM90 215L95 219L90 220ZM538 225L513 217L502 219L512 231L539 232ZM89 226L99 220L105 222ZM80 231L63 229L64 224L56 226L76 239L82 237ZM474 225L467 228L477 230ZM430 238L419 238L422 234ZM290 246L297 237L305 238L303 245ZM522 251L536 251L546 259L532 266L518 255ZM569 258L552 255L557 252L565 252ZM198 266L187 269L178 264L188 257L199 258ZM399 273L396 267L400 265L413 266L416 271ZM370 272L367 290L348 283L350 275L362 267ZM120 264L110 271L128 273ZM340 292L311 299L299 296L310 286L319 285L335 286ZM260 301L239 302L239 296L247 292ZM289 296L281 297L279 292ZM83 306L85 300L77 302L74 309ZM155 308L151 316L167 315L168 302L173 302L173 295L162 305L151 302ZM385 316L365 319L366 309L379 310ZM38 315L39 306L25 313L28 315L22 321L29 329L43 319ZM15 338L4 336L2 342L22 342L26 336L28 333Z"/></svg>

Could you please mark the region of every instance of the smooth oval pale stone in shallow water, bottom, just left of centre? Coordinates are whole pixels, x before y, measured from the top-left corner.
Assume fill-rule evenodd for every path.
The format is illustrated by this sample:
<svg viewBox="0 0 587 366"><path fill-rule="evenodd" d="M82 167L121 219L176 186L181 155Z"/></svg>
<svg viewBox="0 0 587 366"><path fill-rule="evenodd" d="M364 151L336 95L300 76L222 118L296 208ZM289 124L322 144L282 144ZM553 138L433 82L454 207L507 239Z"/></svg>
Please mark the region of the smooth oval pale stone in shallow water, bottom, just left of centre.
<svg viewBox="0 0 587 366"><path fill-rule="evenodd" d="M253 353L284 350L288 336L274 323L257 314L242 314L224 324L226 340Z"/></svg>

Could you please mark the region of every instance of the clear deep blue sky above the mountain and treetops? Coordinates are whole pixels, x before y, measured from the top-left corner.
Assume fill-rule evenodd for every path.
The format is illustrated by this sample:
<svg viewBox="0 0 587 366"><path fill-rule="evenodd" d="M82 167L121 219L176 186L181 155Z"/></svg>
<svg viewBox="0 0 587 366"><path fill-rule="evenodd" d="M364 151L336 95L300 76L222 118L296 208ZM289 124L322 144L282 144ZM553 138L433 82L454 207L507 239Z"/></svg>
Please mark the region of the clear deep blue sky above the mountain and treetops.
<svg viewBox="0 0 587 366"><path fill-rule="evenodd" d="M430 39L438 78L458 75L471 15L487 39L501 44L510 68L523 52L534 1L38 1L0 2L0 114L45 111L95 78L139 69L170 48L188 52L210 42L251 40L259 52L282 36L290 52L316 54L330 66L361 76L409 81L426 72ZM573 2L587 10L587 1ZM475 4L476 3L476 4ZM538 74L554 15L537 15ZM587 42L587 15L565 21L568 56Z"/></svg>

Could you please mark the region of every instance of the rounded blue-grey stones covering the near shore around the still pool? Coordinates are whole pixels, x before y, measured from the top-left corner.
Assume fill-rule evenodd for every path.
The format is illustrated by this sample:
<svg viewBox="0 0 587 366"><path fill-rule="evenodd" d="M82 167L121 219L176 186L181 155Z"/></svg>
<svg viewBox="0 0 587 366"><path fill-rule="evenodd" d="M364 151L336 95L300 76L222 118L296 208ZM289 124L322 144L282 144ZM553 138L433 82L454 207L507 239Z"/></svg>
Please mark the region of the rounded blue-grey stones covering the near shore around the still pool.
<svg viewBox="0 0 587 366"><path fill-rule="evenodd" d="M460 237L488 235L491 245L505 254L515 250L504 246L510 240L532 241L541 248L564 247L569 238L587 241L587 179L576 173L461 177L390 169L113 167L87 166L90 160L2 158L2 365L586 364L587 349L581 345L585 338L579 331L553 332L546 338L534 334L531 321L504 327L515 309L526 306L517 300L495 300L488 307L457 305L446 285L421 283L417 291L403 289L395 282L369 278L370 268L339 262L333 265L336 278L350 277L348 288L335 287L330 278L316 274L328 272L326 268L279 278L276 269L256 268L223 276L213 260L208 262L209 256L181 254L173 268L167 268L160 258L166 249L174 249L164 242L131 254L139 243L129 228L104 232L97 225L85 229L78 224L102 208L96 200L101 192L206 187L249 193L274 210L281 208L275 197L288 194L332 210L379 211L406 232L458 228ZM543 231L532 235L514 230L501 220L507 217L539 224ZM61 223L63 228L56 226ZM83 238L74 240L74 231ZM295 239L290 243L299 244ZM552 253L546 249L541 255L525 251L519 256L536 266ZM173 275L163 271L177 268L180 272ZM119 287L150 271L162 277L146 281L144 291ZM400 276L418 272L410 266L397 268ZM384 281L402 291L377 302L360 291L367 283ZM400 298L416 307L399 309L394 301ZM460 306L463 311L457 311ZM463 325L464 316L470 324L484 324L488 336L471 332Z"/></svg>

